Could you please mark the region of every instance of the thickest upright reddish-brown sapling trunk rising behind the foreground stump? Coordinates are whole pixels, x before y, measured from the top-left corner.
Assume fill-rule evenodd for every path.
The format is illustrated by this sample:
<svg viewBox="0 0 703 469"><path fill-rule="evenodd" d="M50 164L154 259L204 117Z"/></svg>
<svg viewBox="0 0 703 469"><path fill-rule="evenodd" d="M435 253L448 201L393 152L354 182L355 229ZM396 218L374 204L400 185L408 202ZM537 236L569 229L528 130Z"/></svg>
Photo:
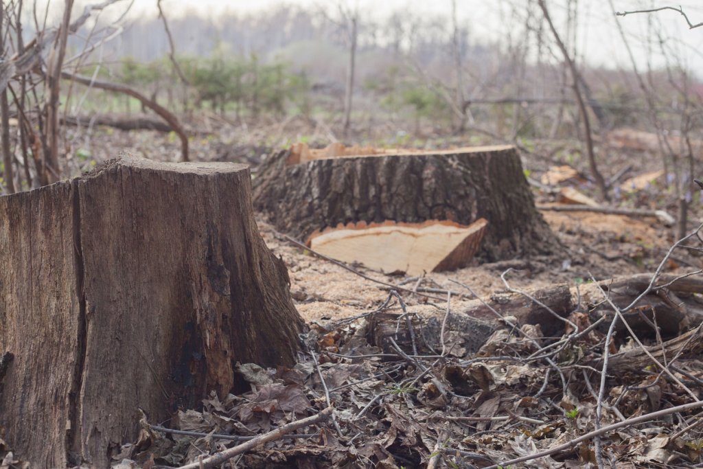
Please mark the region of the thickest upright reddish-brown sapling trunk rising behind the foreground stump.
<svg viewBox="0 0 703 469"><path fill-rule="evenodd" d="M60 176L60 167L58 165L58 106L61 68L63 67L63 58L66 54L66 41L68 38L68 26L71 22L72 9L73 0L65 0L61 29L54 43L53 50L49 55L49 67L46 76L49 82L49 97L46 102L46 135L49 137L49 153L46 155L46 165L49 166L49 171L47 172L49 182L58 181Z"/></svg>

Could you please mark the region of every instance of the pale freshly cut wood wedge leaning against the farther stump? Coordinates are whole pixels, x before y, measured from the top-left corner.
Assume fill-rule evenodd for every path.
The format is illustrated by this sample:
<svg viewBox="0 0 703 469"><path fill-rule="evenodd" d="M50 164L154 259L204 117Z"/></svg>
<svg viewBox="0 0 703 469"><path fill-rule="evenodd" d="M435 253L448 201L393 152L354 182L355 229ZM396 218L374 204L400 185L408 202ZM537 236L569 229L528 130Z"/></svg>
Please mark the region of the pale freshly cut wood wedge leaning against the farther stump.
<svg viewBox="0 0 703 469"><path fill-rule="evenodd" d="M466 266L481 244L486 224L484 219L470 226L439 220L418 224L362 221L313 233L307 244L342 262L416 275Z"/></svg>

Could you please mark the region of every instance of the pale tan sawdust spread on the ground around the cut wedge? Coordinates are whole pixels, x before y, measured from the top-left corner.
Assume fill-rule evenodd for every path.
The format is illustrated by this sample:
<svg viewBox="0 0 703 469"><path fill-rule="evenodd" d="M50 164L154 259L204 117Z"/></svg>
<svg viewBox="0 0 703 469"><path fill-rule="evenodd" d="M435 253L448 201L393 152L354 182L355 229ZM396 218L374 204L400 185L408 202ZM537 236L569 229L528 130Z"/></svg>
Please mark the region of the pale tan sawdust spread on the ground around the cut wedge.
<svg viewBox="0 0 703 469"><path fill-rule="evenodd" d="M420 313L426 308L446 307L446 293L430 289L452 290L452 308L472 297L466 287L482 297L505 291L501 274L511 267L514 270L506 278L512 288L520 290L555 283L574 284L591 274L600 279L652 271L656 260L646 259L661 259L671 244L664 234L668 230L656 219L588 212L543 212L543 217L565 246L562 257L505 260L453 272L430 272L420 278L388 276L363 266L354 269L391 285L425 289L422 293L430 297L403 293L408 307ZM295 306L308 323L326 325L363 314L388 297L388 286L368 281L292 245L265 221L259 220L259 229L269 248L288 267Z"/></svg>

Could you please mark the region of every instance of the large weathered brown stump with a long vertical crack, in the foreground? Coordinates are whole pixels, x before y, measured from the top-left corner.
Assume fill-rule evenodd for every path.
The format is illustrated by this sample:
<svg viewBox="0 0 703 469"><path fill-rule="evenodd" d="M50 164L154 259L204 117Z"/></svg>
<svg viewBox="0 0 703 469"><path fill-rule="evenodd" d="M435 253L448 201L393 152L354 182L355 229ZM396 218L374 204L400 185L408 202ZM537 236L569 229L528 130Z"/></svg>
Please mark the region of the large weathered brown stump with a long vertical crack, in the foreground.
<svg viewBox="0 0 703 469"><path fill-rule="evenodd" d="M153 421L292 364L304 323L231 163L115 160L0 198L0 425L33 467L104 468Z"/></svg>

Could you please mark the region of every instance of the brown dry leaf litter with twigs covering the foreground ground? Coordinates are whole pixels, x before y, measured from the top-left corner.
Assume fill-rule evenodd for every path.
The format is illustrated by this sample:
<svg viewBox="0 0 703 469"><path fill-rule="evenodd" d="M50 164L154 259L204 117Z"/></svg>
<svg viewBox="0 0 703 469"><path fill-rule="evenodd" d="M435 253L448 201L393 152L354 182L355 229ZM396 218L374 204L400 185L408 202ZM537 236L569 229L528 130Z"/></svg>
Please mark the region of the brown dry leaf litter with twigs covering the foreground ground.
<svg viewBox="0 0 703 469"><path fill-rule="evenodd" d="M394 298L387 299L387 307L394 306ZM544 360L545 347L558 341L541 337L535 326L499 328L476 353L407 356L369 344L373 314L312 328L306 346L316 352L293 368L238 366L249 392L223 399L211 394L202 411L180 411L172 422L172 428L203 436L171 435L146 425L140 441L115 454L115 467L197 462L202 454L236 444L217 435L261 434L321 411L328 399L339 430L333 422L304 428L224 467L482 468L565 444L594 429L600 379L595 363L605 338L600 328L553 349L556 366L551 366ZM578 311L569 320L579 330L591 324L588 314ZM703 392L701 362L680 359L677 364L685 373L679 377ZM649 368L609 375L608 389L602 425L690 401L666 375ZM692 421L673 416L610 433L602 442L606 467L691 467L701 462L699 430L671 438ZM511 467L594 463L589 441Z"/></svg>

